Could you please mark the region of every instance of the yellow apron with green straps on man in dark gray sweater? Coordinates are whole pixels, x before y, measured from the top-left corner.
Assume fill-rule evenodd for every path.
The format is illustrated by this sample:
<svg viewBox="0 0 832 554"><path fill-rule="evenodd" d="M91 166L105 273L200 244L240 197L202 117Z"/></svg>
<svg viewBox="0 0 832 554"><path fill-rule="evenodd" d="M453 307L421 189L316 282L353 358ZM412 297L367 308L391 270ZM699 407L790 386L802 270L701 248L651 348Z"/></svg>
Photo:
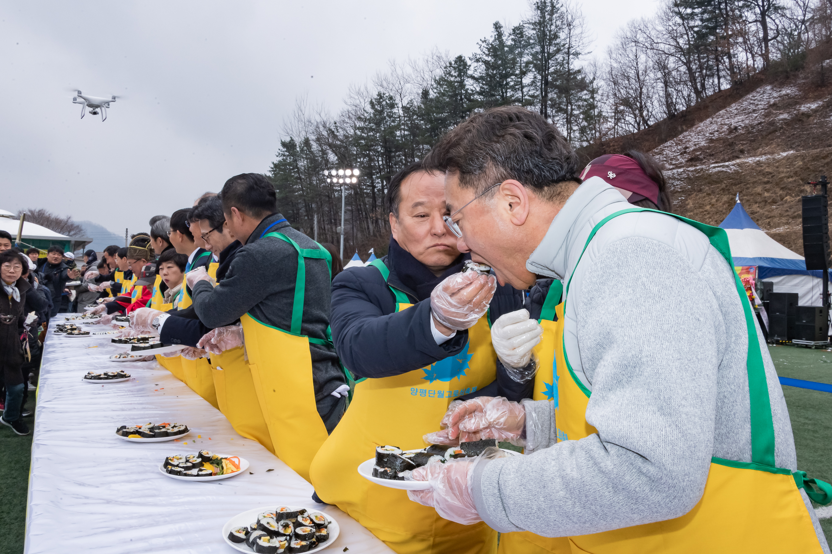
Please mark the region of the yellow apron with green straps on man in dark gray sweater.
<svg viewBox="0 0 832 554"><path fill-rule="evenodd" d="M306 284L304 258L325 259L330 272L332 258L323 247L300 248L283 233L264 233L260 240L263 238L283 240L298 252L291 331L244 314L240 321L245 351L275 454L309 481L312 458L328 437L314 399L310 342L329 346L332 343L300 334Z"/></svg>

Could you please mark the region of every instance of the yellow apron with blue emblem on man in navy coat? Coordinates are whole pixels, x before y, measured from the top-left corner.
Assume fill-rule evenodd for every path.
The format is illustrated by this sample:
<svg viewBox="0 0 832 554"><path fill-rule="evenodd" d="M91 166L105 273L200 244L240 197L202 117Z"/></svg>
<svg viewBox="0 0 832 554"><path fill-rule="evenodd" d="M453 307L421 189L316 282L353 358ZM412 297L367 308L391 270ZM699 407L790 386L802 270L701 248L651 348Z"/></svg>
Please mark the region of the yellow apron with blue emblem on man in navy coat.
<svg viewBox="0 0 832 554"><path fill-rule="evenodd" d="M386 281L389 269L373 265ZM396 311L412 306L404 292L390 287ZM497 378L488 316L468 330L468 345L420 370L380 379L362 379L338 427L315 456L310 474L315 493L349 513L399 554L495 552L497 532L483 522L460 525L432 507L410 502L406 491L379 487L355 470L374 456L375 447L424 448L423 434L439 430L448 404Z"/></svg>

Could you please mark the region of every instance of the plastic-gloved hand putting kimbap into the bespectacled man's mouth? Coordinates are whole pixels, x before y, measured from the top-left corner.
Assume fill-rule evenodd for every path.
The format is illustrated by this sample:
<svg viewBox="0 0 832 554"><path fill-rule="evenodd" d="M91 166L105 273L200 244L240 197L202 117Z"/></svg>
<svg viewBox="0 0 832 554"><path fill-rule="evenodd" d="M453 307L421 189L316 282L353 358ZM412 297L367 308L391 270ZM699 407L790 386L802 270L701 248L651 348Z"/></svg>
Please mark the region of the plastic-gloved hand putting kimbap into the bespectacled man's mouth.
<svg viewBox="0 0 832 554"><path fill-rule="evenodd" d="M462 331L473 326L488 311L497 290L497 277L478 272L454 273L430 294L433 317L443 326Z"/></svg>

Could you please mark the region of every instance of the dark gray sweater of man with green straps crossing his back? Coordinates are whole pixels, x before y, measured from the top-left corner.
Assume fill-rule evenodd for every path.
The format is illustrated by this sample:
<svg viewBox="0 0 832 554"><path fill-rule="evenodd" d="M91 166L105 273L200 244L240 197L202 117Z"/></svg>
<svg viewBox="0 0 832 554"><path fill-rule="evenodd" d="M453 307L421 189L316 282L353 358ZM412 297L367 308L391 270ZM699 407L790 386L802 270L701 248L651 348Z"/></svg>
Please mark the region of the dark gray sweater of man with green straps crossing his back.
<svg viewBox="0 0 832 554"><path fill-rule="evenodd" d="M207 281L196 283L194 309L206 326L230 325L249 313L258 321L290 331L298 252L280 238L260 238L271 223L280 219L283 216L275 213L260 222L248 241L236 252L219 285L211 287ZM314 240L293 229L288 222L278 223L269 229L269 233L275 231L284 233L300 248L318 248ZM325 339L329 327L329 268L323 259L305 258L305 266L306 293L301 332L312 338ZM278 354L275 352L275 355ZM315 400L320 411L322 402L329 406L329 400L335 400L330 394L340 385L345 385L346 380L334 349L310 344L310 354ZM329 407L326 412L329 412Z"/></svg>

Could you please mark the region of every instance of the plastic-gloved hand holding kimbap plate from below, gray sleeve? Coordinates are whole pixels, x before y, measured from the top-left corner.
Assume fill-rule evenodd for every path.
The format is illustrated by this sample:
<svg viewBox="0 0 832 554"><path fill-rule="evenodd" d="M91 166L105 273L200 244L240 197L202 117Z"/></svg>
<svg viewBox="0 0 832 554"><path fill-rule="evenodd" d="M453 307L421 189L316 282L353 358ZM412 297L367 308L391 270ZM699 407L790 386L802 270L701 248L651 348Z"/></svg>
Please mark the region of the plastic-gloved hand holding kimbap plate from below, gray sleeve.
<svg viewBox="0 0 832 554"><path fill-rule="evenodd" d="M477 458L460 458L446 463L438 460L415 468L411 473L414 481L429 481L431 488L422 491L408 491L410 500L433 507L436 512L452 522L471 525L483 521L473 503L472 478L478 463L507 456L500 449L488 448Z"/></svg>

